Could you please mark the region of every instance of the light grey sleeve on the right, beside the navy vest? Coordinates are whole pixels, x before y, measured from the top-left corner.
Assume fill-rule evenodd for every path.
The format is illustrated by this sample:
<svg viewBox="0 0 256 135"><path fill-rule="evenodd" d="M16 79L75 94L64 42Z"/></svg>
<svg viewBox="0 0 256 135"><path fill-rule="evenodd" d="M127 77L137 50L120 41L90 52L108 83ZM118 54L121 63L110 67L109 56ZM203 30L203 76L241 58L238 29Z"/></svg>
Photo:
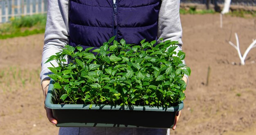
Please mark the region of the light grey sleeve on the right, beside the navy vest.
<svg viewBox="0 0 256 135"><path fill-rule="evenodd" d="M180 22L180 0L162 0L158 18L157 37L163 41L179 42L176 52L182 50L182 26ZM160 42L160 40L158 40ZM185 61L182 60L185 64ZM188 75L184 75L188 78Z"/></svg>

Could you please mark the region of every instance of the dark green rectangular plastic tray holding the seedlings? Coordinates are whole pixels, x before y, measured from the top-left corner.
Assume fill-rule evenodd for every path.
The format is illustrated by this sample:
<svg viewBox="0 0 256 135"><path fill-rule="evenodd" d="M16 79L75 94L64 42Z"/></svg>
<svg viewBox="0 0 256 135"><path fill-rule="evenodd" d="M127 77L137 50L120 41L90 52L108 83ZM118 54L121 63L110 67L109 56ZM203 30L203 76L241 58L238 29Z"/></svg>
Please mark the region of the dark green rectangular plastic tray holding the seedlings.
<svg viewBox="0 0 256 135"><path fill-rule="evenodd" d="M90 104L54 104L53 81L50 81L45 106L51 108L58 127L137 127L172 128L177 111L174 107L110 106Z"/></svg>

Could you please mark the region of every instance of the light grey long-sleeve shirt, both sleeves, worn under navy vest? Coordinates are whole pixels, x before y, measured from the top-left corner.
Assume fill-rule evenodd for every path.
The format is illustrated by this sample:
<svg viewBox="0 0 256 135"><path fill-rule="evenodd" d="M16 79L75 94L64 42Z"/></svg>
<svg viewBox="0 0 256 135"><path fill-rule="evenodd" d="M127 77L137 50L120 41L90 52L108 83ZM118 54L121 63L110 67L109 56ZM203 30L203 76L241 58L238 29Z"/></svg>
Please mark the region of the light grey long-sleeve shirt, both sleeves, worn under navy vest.
<svg viewBox="0 0 256 135"><path fill-rule="evenodd" d="M42 55L41 80L49 79L51 72L48 67L52 65L47 61L51 55L62 51L69 41L68 27L68 1L48 0L47 22L45 27L45 40ZM115 0L114 0L115 1ZM178 41L176 51L182 50L182 27L180 22L180 0L162 0L159 11L157 37L165 40ZM55 62L52 64L56 65Z"/></svg>

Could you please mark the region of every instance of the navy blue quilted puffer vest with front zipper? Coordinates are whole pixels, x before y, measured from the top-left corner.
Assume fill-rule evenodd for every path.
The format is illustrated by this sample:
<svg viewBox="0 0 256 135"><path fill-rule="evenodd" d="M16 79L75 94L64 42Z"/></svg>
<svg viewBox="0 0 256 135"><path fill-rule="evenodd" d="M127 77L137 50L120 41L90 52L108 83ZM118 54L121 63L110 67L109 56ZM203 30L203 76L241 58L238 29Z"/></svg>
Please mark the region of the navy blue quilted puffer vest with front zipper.
<svg viewBox="0 0 256 135"><path fill-rule="evenodd" d="M116 35L128 44L157 40L161 0L70 0L71 46L100 47Z"/></svg>

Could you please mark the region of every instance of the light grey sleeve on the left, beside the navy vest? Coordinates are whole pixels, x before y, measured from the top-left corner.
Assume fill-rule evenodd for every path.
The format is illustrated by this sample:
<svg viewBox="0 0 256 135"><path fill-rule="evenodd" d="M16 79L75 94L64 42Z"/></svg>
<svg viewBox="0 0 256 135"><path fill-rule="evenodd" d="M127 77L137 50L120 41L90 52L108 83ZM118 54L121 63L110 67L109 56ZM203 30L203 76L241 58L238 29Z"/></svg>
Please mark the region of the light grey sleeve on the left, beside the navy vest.
<svg viewBox="0 0 256 135"><path fill-rule="evenodd" d="M68 27L68 0L48 0L47 1L47 22L45 27L45 40L41 61L41 81L49 79L47 76L51 74L48 67L52 65L47 59L62 51L63 47L69 41ZM57 63L52 61L52 64L57 66Z"/></svg>

